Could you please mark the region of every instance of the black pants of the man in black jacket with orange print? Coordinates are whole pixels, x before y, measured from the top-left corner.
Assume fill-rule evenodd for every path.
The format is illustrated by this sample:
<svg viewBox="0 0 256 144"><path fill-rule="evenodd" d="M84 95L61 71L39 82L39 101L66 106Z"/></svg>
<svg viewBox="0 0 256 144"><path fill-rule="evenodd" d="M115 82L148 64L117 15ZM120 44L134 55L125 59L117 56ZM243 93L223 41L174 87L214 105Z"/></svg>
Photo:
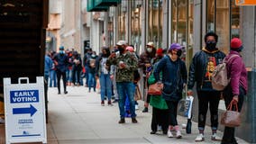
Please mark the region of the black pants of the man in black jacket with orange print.
<svg viewBox="0 0 256 144"><path fill-rule="evenodd" d="M197 91L197 95L198 95L198 105L199 105L198 130L205 130L206 114L208 111L208 107L210 107L212 130L217 130L220 92Z"/></svg>

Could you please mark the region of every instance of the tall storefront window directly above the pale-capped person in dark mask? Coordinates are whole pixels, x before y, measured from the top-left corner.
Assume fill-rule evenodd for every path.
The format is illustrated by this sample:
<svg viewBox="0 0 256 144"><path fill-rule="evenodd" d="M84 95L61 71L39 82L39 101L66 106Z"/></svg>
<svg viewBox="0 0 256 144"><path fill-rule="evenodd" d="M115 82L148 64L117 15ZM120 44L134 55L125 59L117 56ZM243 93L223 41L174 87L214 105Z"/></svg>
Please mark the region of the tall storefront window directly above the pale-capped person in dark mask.
<svg viewBox="0 0 256 144"><path fill-rule="evenodd" d="M156 47L161 47L163 23L162 0L149 0L148 9L148 41L153 41Z"/></svg>

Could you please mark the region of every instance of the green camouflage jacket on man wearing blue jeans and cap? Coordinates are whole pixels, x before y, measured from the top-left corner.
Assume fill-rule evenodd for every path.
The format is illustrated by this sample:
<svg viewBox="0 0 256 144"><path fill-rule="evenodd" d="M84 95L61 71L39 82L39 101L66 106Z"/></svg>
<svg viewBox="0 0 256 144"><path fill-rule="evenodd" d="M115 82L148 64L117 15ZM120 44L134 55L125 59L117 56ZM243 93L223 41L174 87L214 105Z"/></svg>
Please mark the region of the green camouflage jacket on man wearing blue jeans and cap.
<svg viewBox="0 0 256 144"><path fill-rule="evenodd" d="M118 65L120 61L126 65L124 68L119 68ZM108 58L106 61L107 66L115 65L116 68L116 82L133 82L134 79L134 70L138 68L137 58L130 53L129 51L125 54L120 55L117 58Z"/></svg>

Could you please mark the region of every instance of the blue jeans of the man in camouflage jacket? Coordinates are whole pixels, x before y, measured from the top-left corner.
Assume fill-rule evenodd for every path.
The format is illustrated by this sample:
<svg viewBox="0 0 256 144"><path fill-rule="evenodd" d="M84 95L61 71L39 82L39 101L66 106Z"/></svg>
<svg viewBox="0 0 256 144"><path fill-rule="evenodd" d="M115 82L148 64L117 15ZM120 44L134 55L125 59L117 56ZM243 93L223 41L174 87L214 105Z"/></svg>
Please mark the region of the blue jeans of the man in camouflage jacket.
<svg viewBox="0 0 256 144"><path fill-rule="evenodd" d="M130 112L131 112L131 117L135 118L136 113L135 113L135 101L134 101L134 85L132 82L116 82L116 89L117 93L119 95L119 112L120 112L120 117L124 118L125 117L125 112L124 112L124 105L125 105L125 97L126 95L129 98L130 101Z"/></svg>

